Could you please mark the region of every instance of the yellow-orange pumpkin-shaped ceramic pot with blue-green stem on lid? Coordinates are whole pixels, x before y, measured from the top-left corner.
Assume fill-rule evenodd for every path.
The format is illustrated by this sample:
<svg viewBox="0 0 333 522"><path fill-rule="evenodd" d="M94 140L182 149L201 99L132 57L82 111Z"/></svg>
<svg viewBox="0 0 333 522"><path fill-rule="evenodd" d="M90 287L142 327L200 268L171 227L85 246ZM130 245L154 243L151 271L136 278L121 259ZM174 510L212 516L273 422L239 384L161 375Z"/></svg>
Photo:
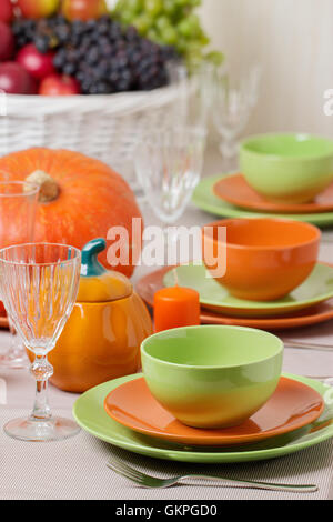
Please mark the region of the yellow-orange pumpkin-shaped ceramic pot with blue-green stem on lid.
<svg viewBox="0 0 333 522"><path fill-rule="evenodd" d="M51 382L61 390L83 392L97 384L135 373L140 344L152 333L150 314L119 272L105 270L97 257L103 239L82 249L79 294L57 347L49 353Z"/></svg>

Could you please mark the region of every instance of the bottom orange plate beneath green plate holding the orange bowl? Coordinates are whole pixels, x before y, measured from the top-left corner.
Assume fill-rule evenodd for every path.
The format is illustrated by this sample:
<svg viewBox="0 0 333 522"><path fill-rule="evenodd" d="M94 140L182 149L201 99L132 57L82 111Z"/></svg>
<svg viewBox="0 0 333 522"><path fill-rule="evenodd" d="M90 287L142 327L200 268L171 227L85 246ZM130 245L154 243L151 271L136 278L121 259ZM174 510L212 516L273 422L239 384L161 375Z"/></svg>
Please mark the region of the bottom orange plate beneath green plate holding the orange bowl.
<svg viewBox="0 0 333 522"><path fill-rule="evenodd" d="M154 293L163 288L163 277L171 269L172 267L165 267L151 272L137 283L138 293L150 307L153 307ZM276 319L234 318L203 309L201 310L200 319L202 324L229 324L260 328L263 330L287 330L309 327L333 319L333 299Z"/></svg>

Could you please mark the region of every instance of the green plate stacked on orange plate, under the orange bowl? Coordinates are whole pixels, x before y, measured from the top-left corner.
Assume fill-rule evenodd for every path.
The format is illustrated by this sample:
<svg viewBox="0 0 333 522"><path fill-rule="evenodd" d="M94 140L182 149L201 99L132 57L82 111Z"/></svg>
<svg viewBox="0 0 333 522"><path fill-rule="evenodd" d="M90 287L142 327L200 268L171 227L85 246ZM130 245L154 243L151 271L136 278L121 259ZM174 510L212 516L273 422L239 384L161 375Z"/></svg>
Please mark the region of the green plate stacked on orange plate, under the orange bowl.
<svg viewBox="0 0 333 522"><path fill-rule="evenodd" d="M174 284L174 270L180 285L199 292L203 324L284 330L333 319L333 267L324 263L317 263L305 282L286 298L268 302L232 297L218 281L206 278L203 264L169 267L150 273L137 284L137 291L150 307L158 290Z"/></svg>

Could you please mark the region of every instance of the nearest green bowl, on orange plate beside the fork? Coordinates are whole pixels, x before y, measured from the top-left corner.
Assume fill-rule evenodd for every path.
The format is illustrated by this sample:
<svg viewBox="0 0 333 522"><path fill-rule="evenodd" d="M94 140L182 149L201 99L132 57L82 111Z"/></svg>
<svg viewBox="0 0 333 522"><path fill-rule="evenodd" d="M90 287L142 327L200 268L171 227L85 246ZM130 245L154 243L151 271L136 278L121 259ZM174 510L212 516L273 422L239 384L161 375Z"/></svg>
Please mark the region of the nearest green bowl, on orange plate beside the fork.
<svg viewBox="0 0 333 522"><path fill-rule="evenodd" d="M282 341L262 330L188 327L151 335L141 345L152 395L183 424L239 425L274 393Z"/></svg>

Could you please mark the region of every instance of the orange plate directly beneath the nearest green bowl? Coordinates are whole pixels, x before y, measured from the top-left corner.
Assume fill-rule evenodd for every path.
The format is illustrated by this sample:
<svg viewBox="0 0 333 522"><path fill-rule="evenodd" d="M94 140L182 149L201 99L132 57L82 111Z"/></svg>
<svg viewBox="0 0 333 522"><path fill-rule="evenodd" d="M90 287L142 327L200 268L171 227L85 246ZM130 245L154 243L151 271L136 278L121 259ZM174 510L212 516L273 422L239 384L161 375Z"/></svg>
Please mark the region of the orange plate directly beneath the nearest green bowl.
<svg viewBox="0 0 333 522"><path fill-rule="evenodd" d="M324 401L313 388L282 377L272 398L243 424L199 430L182 424L164 410L150 393L144 378L138 378L109 393L104 409L114 421L144 435L181 444L216 446L256 442L297 430L322 414Z"/></svg>

